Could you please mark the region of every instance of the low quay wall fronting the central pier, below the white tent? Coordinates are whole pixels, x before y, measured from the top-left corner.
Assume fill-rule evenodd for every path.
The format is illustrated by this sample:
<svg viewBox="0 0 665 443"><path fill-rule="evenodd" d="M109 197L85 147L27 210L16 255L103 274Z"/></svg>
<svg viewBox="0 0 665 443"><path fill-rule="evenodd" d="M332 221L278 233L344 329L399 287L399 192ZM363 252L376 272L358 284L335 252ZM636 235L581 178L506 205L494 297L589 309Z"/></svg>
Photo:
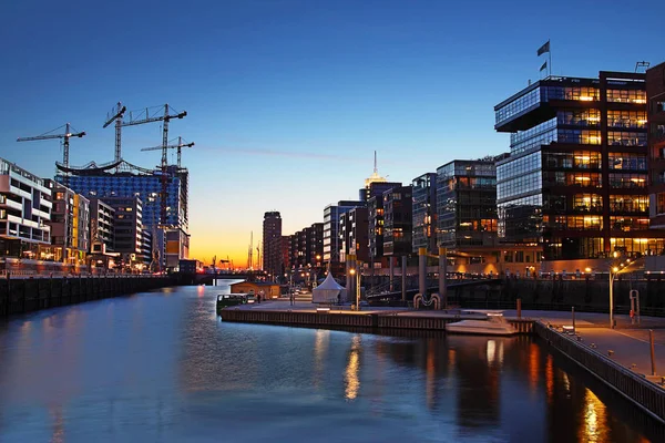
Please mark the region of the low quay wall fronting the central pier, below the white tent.
<svg viewBox="0 0 665 443"><path fill-rule="evenodd" d="M420 329L444 331L446 323L459 321L459 316L397 316L390 313L345 313L345 312L303 312L303 311L260 311L247 309L221 309L224 321L246 323L268 323L284 326L305 326L311 328L368 328L368 329ZM533 320L509 320L520 333L532 333Z"/></svg>

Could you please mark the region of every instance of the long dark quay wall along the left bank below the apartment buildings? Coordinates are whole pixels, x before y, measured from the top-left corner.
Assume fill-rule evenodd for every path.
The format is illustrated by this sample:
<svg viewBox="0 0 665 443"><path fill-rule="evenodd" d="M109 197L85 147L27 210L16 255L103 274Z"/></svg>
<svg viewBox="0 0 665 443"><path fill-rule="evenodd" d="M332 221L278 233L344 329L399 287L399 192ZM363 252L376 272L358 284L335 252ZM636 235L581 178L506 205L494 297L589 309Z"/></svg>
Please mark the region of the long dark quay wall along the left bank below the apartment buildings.
<svg viewBox="0 0 665 443"><path fill-rule="evenodd" d="M0 279L0 318L173 286L167 276Z"/></svg>

